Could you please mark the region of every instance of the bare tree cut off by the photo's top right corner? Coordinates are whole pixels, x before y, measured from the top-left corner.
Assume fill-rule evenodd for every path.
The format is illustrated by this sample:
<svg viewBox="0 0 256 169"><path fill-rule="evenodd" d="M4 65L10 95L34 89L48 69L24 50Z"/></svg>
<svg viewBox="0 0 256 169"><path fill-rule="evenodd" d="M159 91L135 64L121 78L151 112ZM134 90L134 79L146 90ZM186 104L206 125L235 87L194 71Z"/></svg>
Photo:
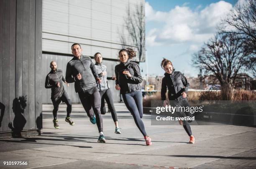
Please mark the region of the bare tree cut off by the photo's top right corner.
<svg viewBox="0 0 256 169"><path fill-rule="evenodd" d="M247 0L238 4L222 21L220 33L235 34L243 40L243 50L249 57L245 64L247 70L256 75L256 1Z"/></svg>

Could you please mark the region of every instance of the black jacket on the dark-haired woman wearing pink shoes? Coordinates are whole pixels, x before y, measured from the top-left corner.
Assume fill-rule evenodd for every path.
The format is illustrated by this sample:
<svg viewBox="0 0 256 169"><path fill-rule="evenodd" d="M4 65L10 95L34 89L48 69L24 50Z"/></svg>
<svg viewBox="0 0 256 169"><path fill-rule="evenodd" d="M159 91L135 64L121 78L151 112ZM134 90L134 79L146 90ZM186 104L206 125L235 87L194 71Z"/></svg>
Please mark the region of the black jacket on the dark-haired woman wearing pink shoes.
<svg viewBox="0 0 256 169"><path fill-rule="evenodd" d="M131 77L124 75L122 72L129 70ZM120 93L131 93L141 90L140 83L142 82L141 72L138 64L128 59L125 63L120 63L115 66L115 84L120 86Z"/></svg>

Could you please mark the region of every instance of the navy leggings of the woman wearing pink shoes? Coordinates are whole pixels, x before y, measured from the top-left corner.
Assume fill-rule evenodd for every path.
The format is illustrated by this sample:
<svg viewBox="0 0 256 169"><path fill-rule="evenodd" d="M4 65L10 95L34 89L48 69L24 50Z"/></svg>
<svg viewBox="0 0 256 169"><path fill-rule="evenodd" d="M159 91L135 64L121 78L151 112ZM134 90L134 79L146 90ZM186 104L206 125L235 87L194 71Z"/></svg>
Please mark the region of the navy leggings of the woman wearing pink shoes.
<svg viewBox="0 0 256 169"><path fill-rule="evenodd" d="M127 109L131 112L133 115L133 119L138 127L138 129L141 131L143 136L147 136L144 123L142 121L143 117L143 107L142 107L142 92L135 91L131 93L125 93L122 94L123 101L127 107Z"/></svg>

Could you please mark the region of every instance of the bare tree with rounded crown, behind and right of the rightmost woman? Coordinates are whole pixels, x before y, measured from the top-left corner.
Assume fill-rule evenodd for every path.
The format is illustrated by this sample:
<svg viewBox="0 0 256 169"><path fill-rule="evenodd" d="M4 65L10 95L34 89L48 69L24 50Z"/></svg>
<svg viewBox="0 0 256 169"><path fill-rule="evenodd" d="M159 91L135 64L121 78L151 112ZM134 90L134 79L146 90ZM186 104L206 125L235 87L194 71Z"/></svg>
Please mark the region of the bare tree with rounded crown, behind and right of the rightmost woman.
<svg viewBox="0 0 256 169"><path fill-rule="evenodd" d="M233 86L246 57L243 40L234 34L218 34L193 56L192 62L204 70L206 76L217 78L223 87Z"/></svg>

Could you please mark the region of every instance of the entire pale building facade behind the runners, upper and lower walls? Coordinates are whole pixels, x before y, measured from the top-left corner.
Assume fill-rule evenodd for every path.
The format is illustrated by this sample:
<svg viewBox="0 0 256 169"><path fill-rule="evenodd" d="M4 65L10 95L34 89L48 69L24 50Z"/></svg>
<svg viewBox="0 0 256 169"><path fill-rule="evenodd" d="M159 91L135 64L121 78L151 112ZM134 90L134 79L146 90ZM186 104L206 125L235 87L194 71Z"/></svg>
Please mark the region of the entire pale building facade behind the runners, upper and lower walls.
<svg viewBox="0 0 256 169"><path fill-rule="evenodd" d="M67 62L72 59L71 45L79 43L83 55L92 57L100 52L108 76L115 76L118 51L133 47L133 41L125 30L127 10L133 11L144 0L43 0L42 72L50 71L52 60L65 76ZM127 39L123 44L120 33ZM136 48L136 47L133 47ZM145 56L143 56L145 57ZM138 58L135 59L138 61ZM94 60L93 60L94 62ZM109 81L114 101L119 101L115 82ZM74 84L65 86L72 102L79 103ZM51 90L43 89L43 103L51 103Z"/></svg>

